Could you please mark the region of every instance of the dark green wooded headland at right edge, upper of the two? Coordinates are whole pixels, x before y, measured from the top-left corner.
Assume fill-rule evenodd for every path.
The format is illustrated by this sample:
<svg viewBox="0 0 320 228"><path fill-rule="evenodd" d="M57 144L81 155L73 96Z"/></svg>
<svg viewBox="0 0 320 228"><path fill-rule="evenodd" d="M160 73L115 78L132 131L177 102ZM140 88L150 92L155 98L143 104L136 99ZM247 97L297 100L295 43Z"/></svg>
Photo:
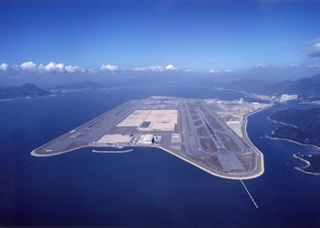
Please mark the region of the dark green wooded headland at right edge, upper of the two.
<svg viewBox="0 0 320 228"><path fill-rule="evenodd" d="M287 126L272 131L268 138L320 147L320 108L280 110L269 119Z"/></svg>

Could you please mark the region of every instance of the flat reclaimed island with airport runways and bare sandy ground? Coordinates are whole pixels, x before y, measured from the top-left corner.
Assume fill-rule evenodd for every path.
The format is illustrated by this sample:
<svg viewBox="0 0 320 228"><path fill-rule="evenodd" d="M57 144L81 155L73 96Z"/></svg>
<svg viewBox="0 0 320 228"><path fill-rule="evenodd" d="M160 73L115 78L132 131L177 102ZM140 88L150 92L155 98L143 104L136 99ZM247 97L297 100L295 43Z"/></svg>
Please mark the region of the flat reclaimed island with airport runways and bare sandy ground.
<svg viewBox="0 0 320 228"><path fill-rule="evenodd" d="M149 97L130 100L31 152L55 156L78 148L161 148L220 178L245 180L264 173L263 154L247 136L247 116L271 104ZM114 151L110 151L114 152Z"/></svg>

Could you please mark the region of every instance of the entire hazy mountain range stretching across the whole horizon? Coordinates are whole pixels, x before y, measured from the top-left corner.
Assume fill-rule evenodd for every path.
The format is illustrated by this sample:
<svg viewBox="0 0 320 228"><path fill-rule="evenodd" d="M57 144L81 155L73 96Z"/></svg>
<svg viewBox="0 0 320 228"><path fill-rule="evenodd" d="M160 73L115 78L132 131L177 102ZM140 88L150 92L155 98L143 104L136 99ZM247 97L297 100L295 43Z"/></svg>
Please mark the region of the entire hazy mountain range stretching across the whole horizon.
<svg viewBox="0 0 320 228"><path fill-rule="evenodd" d="M105 89L107 87L130 87L130 86L159 86L161 78L141 77L135 80L124 80L118 84L106 84L100 82L80 82L69 85L59 85L50 89L52 92L41 89L30 83L21 87L0 87L0 99L14 99L23 97L43 97L60 92L74 92L86 89ZM193 85L199 87L221 87L223 89L238 90L250 94L261 94L279 97L282 94L297 94L299 99L320 99L320 74L313 77L305 77L299 80L284 80L282 82L244 79L222 84L213 82L208 78L175 78L166 81L166 85Z"/></svg>

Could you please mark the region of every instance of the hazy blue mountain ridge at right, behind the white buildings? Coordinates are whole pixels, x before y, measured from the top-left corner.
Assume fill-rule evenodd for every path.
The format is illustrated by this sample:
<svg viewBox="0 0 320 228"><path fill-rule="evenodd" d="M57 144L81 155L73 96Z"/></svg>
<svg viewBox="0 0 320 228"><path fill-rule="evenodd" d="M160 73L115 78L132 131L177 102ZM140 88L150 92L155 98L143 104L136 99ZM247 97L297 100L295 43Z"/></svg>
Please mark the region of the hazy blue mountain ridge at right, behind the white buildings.
<svg viewBox="0 0 320 228"><path fill-rule="evenodd" d="M298 97L304 99L320 99L320 74L295 81L284 80L278 83L251 79L239 80L226 84L224 88L270 96L298 94Z"/></svg>

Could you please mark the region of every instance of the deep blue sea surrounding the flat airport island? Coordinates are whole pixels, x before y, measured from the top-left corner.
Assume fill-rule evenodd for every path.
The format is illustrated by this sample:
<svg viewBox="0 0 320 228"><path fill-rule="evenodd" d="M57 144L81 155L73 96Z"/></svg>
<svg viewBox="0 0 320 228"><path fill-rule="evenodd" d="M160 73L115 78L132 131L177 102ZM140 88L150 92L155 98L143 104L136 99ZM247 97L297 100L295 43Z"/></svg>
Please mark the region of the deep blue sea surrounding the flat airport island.
<svg viewBox="0 0 320 228"><path fill-rule="evenodd" d="M245 94L191 86L87 90L0 102L0 227L320 227L320 176L294 169L294 153L316 151L265 136L277 104L248 119L265 173L243 180L210 175L159 148L47 158L31 151L129 99L149 96L240 99Z"/></svg>

